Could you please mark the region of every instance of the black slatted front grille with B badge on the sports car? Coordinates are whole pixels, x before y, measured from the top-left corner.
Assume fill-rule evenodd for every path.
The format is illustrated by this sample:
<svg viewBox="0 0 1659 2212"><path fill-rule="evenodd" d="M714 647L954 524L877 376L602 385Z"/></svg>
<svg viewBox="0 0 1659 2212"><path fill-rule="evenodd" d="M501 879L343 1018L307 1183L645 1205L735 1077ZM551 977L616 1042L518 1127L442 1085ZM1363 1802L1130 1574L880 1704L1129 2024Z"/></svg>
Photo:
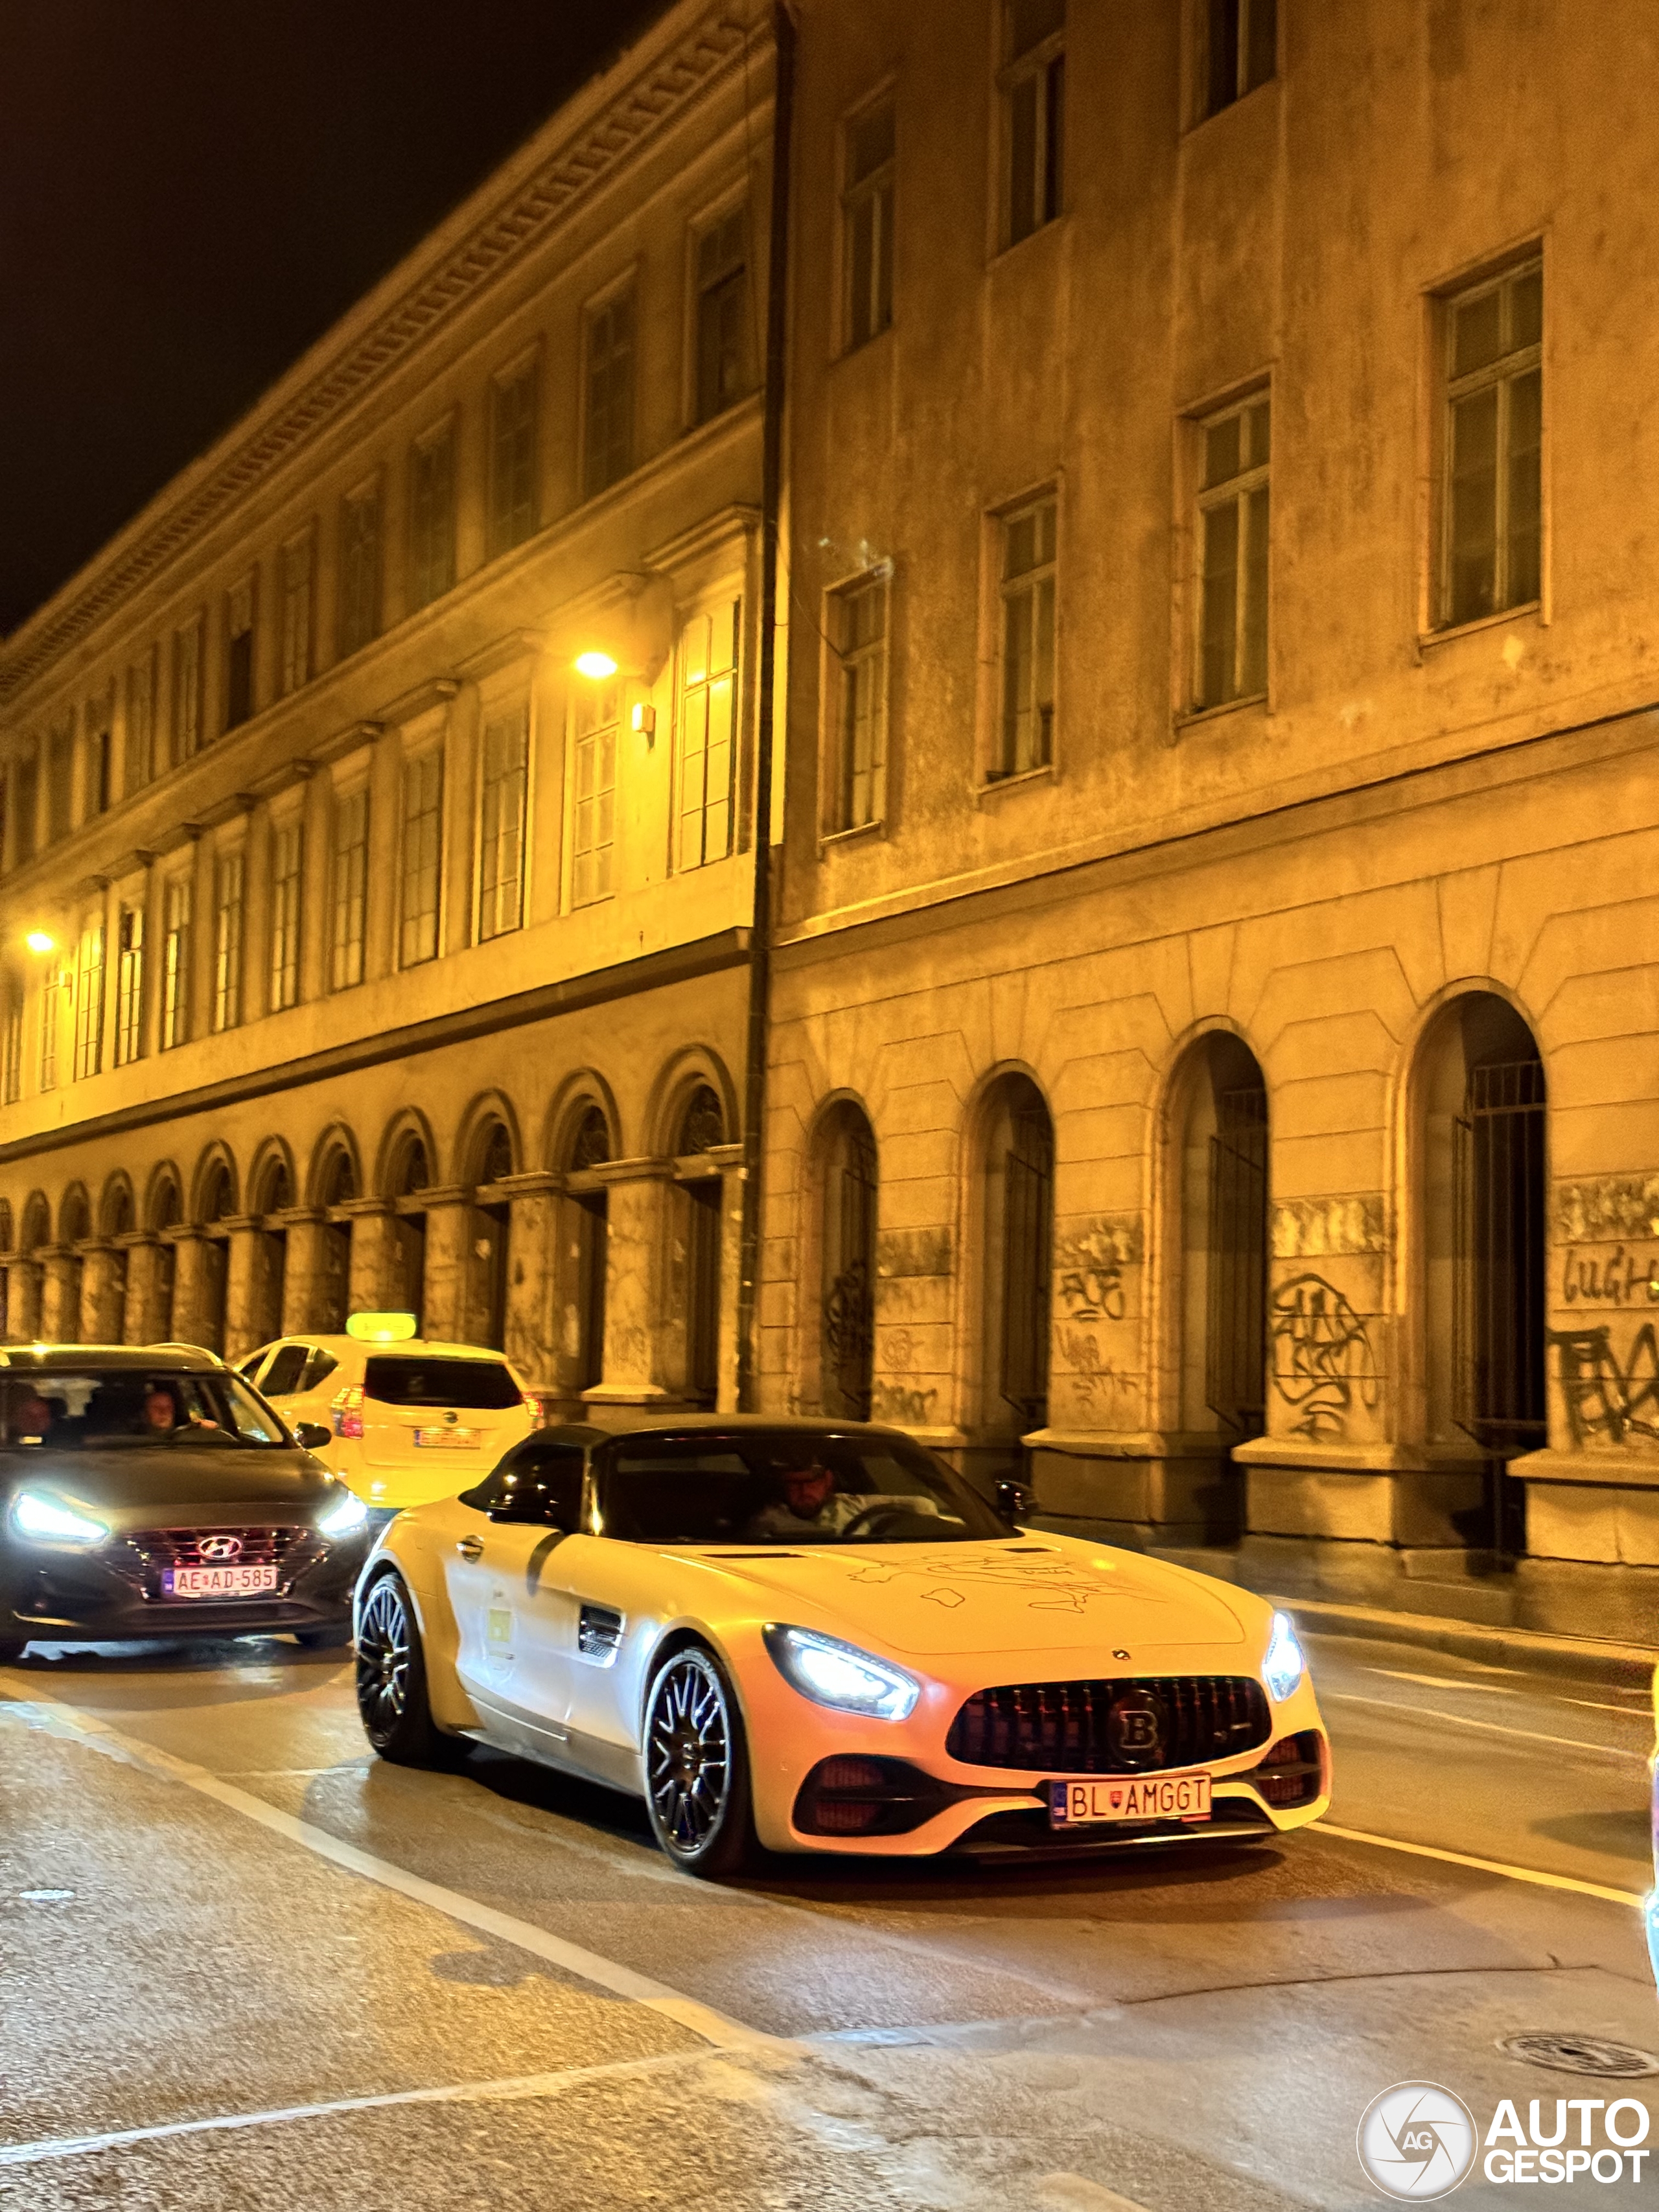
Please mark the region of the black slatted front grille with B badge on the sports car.
<svg viewBox="0 0 1659 2212"><path fill-rule="evenodd" d="M1135 1674L975 1690L945 1750L969 1767L1155 1774L1254 1752L1267 1732L1250 1674Z"/></svg>

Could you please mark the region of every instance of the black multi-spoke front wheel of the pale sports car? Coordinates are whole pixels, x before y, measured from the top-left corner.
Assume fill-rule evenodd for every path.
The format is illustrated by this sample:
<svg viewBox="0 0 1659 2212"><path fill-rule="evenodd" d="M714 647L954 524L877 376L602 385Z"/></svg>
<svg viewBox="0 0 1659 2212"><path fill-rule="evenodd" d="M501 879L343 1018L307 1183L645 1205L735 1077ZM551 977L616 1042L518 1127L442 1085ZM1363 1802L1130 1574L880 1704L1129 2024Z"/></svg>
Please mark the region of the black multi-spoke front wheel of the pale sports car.
<svg viewBox="0 0 1659 2212"><path fill-rule="evenodd" d="M677 1650L646 1699L646 1805L688 1874L734 1874L754 1854L743 1717L719 1659Z"/></svg>

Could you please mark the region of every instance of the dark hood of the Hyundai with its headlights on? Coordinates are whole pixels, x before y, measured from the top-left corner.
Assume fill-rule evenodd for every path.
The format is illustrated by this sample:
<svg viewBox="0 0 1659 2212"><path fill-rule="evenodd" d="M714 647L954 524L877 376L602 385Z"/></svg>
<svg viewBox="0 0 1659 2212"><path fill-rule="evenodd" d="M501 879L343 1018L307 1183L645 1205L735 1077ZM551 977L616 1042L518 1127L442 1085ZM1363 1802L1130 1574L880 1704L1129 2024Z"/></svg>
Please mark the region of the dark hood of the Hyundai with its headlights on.
<svg viewBox="0 0 1659 2212"><path fill-rule="evenodd" d="M104 1517L228 1511L237 1520L303 1515L334 1489L307 1451L243 1449L241 1444L179 1444L137 1451L7 1453L0 1462L7 1493L24 1486L51 1491Z"/></svg>

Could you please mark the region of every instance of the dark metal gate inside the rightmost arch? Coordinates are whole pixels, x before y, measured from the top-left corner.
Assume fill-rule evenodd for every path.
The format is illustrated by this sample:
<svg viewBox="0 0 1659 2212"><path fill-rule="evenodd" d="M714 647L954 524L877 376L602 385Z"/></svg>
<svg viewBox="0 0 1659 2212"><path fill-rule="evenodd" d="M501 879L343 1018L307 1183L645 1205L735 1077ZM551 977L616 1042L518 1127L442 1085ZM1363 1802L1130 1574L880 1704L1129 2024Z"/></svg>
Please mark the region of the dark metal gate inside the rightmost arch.
<svg viewBox="0 0 1659 2212"><path fill-rule="evenodd" d="M1548 1440L1544 1391L1544 1064L1471 1068L1451 1130L1455 1420L1491 1455L1486 1537L1524 1548L1504 1469Z"/></svg>

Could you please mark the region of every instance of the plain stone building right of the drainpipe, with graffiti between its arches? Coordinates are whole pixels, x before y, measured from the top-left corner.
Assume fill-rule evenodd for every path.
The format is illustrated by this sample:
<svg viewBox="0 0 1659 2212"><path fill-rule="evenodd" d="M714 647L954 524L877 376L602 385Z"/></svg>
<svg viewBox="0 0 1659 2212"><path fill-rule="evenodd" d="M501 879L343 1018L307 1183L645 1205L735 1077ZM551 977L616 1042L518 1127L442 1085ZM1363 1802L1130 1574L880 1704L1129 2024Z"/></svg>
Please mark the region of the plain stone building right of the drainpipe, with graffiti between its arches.
<svg viewBox="0 0 1659 2212"><path fill-rule="evenodd" d="M1652 1632L1657 40L803 0L770 1402Z"/></svg>

